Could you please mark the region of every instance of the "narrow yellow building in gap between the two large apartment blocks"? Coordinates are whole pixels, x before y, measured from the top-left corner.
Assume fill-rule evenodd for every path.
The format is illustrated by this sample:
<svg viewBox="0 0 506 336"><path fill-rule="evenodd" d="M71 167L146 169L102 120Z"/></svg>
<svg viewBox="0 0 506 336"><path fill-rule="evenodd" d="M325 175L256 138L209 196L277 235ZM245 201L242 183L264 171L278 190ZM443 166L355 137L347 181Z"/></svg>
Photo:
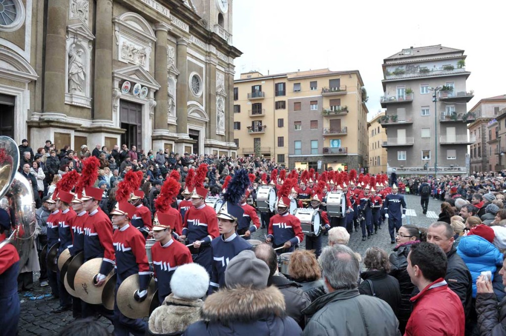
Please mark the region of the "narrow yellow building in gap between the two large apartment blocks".
<svg viewBox="0 0 506 336"><path fill-rule="evenodd" d="M378 113L368 123L369 173L371 174L384 174L387 172L387 149L383 147L383 143L387 141L387 132L379 123L379 120L384 116L385 112Z"/></svg>

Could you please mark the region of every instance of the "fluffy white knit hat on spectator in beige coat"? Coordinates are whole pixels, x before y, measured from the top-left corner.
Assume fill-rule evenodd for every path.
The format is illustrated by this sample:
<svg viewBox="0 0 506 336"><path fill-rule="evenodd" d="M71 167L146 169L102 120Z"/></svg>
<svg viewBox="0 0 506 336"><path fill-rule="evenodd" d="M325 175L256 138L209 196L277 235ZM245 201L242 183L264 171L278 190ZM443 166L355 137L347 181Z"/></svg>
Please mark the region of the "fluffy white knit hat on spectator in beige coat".
<svg viewBox="0 0 506 336"><path fill-rule="evenodd" d="M171 278L171 290L175 298L197 300L209 289L209 274L199 264L179 266Z"/></svg>

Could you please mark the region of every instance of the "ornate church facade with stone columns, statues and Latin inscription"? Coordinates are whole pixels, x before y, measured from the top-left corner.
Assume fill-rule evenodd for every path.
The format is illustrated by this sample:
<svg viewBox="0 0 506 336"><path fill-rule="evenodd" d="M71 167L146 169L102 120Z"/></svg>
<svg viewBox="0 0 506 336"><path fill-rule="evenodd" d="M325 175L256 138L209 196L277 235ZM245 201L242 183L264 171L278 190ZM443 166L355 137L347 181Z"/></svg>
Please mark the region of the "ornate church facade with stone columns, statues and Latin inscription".
<svg viewBox="0 0 506 336"><path fill-rule="evenodd" d="M0 5L0 134L235 156L231 0Z"/></svg>

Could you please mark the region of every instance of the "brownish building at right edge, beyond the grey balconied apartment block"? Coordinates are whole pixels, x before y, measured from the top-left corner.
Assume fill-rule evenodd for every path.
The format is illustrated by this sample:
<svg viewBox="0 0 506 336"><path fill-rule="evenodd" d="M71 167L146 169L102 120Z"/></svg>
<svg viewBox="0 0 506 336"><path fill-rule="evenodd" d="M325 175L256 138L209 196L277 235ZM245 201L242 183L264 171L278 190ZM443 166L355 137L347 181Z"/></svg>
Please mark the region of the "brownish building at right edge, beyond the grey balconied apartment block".
<svg viewBox="0 0 506 336"><path fill-rule="evenodd" d="M491 138L488 136L487 128L487 125L494 118L497 118L504 108L506 108L506 94L484 98L469 110L475 116L475 121L469 124L468 129L469 133L476 138L476 142L471 145L470 151L471 171L492 170L491 167L494 168L494 166L491 165L489 159L506 151L506 140L502 143L502 147L490 147L488 145ZM495 145L498 145L498 143L495 143Z"/></svg>

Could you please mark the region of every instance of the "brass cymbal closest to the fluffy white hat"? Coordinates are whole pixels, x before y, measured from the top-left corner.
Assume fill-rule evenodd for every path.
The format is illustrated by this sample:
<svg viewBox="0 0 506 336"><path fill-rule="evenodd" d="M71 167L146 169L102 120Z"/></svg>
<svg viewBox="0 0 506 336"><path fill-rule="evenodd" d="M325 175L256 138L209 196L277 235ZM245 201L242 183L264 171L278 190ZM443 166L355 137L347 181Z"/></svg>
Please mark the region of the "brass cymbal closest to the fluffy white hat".
<svg viewBox="0 0 506 336"><path fill-rule="evenodd" d="M116 304L119 311L129 318L143 318L149 315L151 300L155 295L155 280L151 278L148 285L148 294L146 300L137 302L134 299L135 291L139 289L139 274L132 274L124 279L119 285L116 293Z"/></svg>

